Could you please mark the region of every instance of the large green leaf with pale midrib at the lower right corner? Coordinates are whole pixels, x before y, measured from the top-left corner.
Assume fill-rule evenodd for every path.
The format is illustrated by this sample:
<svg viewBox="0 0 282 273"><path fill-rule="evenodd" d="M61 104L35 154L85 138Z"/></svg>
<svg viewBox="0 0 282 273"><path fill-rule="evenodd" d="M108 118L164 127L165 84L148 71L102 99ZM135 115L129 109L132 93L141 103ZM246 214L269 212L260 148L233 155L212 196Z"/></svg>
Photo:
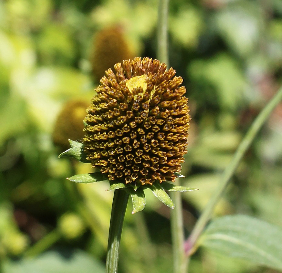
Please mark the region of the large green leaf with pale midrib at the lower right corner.
<svg viewBox="0 0 282 273"><path fill-rule="evenodd" d="M212 221L199 244L221 254L282 270L282 227L244 215Z"/></svg>

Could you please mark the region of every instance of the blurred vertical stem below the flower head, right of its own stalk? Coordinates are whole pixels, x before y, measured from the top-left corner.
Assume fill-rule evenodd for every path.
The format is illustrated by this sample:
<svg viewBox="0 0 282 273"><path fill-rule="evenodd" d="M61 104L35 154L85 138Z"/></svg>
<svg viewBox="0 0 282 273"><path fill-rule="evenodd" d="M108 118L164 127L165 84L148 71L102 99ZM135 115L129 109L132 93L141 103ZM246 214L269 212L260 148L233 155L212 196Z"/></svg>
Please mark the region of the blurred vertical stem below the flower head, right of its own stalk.
<svg viewBox="0 0 282 273"><path fill-rule="evenodd" d="M175 181L179 185L179 179ZM171 192L175 208L171 211L171 232L173 252L173 272L187 272L187 259L184 252L184 227L182 215L182 201L180 192Z"/></svg>

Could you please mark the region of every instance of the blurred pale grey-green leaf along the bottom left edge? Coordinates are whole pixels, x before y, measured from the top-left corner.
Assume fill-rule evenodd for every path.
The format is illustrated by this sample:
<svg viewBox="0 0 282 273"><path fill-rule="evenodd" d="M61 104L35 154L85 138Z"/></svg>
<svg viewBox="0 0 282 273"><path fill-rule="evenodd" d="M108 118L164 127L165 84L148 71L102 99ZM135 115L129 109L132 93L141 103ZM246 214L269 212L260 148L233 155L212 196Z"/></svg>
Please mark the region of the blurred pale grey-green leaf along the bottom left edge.
<svg viewBox="0 0 282 273"><path fill-rule="evenodd" d="M2 265L2 272L104 273L105 267L84 251L67 249L64 252L48 251L34 259L6 261Z"/></svg>

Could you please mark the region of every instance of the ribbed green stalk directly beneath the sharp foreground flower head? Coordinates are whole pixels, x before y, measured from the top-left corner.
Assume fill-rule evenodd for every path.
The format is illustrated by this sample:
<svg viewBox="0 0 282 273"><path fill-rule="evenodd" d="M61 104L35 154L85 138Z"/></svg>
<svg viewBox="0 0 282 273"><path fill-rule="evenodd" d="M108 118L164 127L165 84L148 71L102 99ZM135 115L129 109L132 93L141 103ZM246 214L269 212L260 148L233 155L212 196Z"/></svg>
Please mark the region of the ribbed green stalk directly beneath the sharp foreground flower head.
<svg viewBox="0 0 282 273"><path fill-rule="evenodd" d="M108 239L106 273L117 272L121 231L128 197L129 194L125 190L114 191Z"/></svg>

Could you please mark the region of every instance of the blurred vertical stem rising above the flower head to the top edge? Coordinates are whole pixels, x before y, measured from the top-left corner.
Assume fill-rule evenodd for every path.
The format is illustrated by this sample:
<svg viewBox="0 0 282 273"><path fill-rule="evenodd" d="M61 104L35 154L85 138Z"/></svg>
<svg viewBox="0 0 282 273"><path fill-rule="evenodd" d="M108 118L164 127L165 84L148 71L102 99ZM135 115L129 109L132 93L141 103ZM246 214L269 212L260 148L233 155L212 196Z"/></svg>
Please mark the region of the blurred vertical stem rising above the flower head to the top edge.
<svg viewBox="0 0 282 273"><path fill-rule="evenodd" d="M157 26L157 59L168 64L168 1L159 0Z"/></svg>

